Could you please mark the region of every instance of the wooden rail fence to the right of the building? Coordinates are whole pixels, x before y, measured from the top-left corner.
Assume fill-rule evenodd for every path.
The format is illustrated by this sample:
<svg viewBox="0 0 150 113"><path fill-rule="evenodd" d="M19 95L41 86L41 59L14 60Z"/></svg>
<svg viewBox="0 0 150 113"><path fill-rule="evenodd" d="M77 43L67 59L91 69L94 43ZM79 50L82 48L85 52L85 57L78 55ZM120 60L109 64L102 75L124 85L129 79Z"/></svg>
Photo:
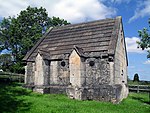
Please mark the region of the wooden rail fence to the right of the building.
<svg viewBox="0 0 150 113"><path fill-rule="evenodd" d="M150 92L150 86L148 85L129 85L130 92Z"/></svg>

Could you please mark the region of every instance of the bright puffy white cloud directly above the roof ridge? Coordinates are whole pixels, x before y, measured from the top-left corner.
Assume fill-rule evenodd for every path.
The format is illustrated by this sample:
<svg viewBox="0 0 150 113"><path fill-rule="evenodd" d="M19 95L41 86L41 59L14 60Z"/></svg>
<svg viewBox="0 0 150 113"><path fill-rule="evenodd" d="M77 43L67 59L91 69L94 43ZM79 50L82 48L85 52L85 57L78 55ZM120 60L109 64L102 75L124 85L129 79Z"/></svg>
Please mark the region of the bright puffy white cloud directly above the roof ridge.
<svg viewBox="0 0 150 113"><path fill-rule="evenodd" d="M71 22L83 22L95 19L104 19L116 14L98 0L65 0L53 7L51 15L60 16Z"/></svg>

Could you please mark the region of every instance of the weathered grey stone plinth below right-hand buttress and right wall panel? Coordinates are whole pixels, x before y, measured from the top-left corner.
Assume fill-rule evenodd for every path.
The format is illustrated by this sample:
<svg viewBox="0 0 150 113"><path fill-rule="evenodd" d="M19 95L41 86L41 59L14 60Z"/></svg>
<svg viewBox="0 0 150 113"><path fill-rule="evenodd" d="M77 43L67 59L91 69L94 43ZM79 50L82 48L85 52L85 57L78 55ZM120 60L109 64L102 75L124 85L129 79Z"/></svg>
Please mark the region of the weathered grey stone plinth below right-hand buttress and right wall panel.
<svg viewBox="0 0 150 113"><path fill-rule="evenodd" d="M118 103L121 100L122 85L99 85L99 87L68 87L70 98L79 100L99 100Z"/></svg>

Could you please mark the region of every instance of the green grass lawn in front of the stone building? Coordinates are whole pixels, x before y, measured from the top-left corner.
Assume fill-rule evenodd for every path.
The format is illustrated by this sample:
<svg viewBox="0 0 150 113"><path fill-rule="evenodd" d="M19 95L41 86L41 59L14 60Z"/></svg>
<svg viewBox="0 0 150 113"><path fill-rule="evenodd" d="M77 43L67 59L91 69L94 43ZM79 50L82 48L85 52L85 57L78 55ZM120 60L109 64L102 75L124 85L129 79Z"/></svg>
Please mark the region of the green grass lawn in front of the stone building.
<svg viewBox="0 0 150 113"><path fill-rule="evenodd" d="M120 104L39 94L19 83L0 82L0 113L150 113L148 93L130 93Z"/></svg>

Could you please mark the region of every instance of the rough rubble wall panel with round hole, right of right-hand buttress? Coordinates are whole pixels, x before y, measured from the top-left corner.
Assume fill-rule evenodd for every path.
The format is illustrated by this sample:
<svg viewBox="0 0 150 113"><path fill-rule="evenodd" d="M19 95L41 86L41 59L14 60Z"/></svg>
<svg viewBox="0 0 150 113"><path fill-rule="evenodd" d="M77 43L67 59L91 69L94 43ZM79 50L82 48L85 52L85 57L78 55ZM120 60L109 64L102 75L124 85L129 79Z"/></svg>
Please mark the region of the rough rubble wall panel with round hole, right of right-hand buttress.
<svg viewBox="0 0 150 113"><path fill-rule="evenodd" d="M97 87L101 84L110 83L110 66L107 59L88 58L86 65L85 86Z"/></svg>

